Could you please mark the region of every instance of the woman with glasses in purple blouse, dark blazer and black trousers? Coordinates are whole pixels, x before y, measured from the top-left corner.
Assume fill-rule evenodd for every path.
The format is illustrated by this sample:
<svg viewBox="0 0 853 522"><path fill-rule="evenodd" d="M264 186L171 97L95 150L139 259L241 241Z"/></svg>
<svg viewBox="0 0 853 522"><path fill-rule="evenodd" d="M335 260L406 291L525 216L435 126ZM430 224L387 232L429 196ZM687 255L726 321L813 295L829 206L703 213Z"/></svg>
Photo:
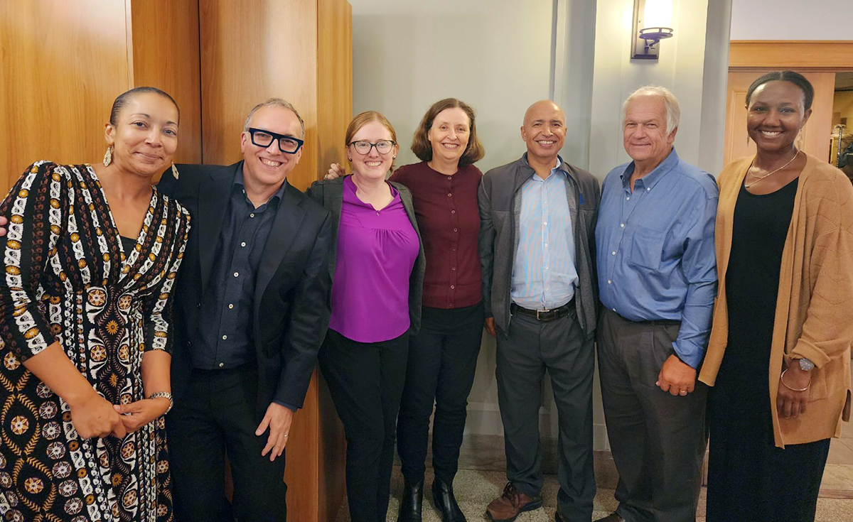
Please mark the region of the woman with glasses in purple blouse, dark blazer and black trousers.
<svg viewBox="0 0 853 522"><path fill-rule="evenodd" d="M409 189L386 182L397 135L380 113L346 130L352 175L307 194L334 217L332 316L319 362L346 433L346 493L353 522L386 519L395 426L409 334L421 323L425 258Z"/></svg>

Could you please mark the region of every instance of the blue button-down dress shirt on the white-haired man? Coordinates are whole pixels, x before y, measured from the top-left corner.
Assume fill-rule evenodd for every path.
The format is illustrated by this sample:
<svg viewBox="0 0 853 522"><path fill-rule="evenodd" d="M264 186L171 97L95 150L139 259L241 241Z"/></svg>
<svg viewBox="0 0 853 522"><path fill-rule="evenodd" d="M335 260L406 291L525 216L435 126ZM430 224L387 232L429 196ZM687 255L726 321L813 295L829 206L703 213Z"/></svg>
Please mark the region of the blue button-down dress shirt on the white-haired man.
<svg viewBox="0 0 853 522"><path fill-rule="evenodd" d="M630 189L634 163L604 180L595 227L601 303L630 321L681 321L676 355L705 356L717 295L711 174L670 155Z"/></svg>

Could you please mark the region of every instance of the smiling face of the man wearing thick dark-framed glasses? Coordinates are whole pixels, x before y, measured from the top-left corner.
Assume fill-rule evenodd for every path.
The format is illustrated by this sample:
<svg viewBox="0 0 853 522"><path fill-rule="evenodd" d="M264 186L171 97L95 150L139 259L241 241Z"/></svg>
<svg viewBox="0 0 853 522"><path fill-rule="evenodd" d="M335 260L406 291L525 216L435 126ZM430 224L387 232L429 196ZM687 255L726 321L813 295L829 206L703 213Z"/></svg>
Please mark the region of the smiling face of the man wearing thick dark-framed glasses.
<svg viewBox="0 0 853 522"><path fill-rule="evenodd" d="M253 129L275 132L285 136L302 138L302 126L296 114L285 107L261 107L252 115L249 124ZM287 178L287 175L299 164L302 158L302 148L296 154L281 152L278 140L273 140L269 147L259 147L252 143L249 131L243 131L240 138L240 150L243 153L244 176L251 177L253 183L275 186Z"/></svg>

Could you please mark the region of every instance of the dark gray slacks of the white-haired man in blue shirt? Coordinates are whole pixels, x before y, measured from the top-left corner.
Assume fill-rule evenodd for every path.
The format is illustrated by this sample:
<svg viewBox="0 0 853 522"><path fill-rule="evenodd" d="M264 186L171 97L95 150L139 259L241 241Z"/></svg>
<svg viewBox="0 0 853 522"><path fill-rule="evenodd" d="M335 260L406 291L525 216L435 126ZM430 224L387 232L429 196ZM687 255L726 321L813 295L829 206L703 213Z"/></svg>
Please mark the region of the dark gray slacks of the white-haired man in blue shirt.
<svg viewBox="0 0 853 522"><path fill-rule="evenodd" d="M631 322L603 310L598 366L607 437L619 473L617 513L628 522L696 519L708 442L699 381L686 397L655 382L674 353L678 322Z"/></svg>

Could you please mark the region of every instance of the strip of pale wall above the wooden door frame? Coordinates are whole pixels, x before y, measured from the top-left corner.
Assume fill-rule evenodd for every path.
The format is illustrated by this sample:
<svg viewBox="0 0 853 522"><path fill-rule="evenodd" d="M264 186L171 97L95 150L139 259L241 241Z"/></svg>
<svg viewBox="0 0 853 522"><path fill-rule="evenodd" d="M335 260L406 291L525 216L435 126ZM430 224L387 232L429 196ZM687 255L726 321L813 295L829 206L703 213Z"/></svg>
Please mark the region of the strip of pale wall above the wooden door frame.
<svg viewBox="0 0 853 522"><path fill-rule="evenodd" d="M731 0L733 40L853 40L850 0Z"/></svg>

